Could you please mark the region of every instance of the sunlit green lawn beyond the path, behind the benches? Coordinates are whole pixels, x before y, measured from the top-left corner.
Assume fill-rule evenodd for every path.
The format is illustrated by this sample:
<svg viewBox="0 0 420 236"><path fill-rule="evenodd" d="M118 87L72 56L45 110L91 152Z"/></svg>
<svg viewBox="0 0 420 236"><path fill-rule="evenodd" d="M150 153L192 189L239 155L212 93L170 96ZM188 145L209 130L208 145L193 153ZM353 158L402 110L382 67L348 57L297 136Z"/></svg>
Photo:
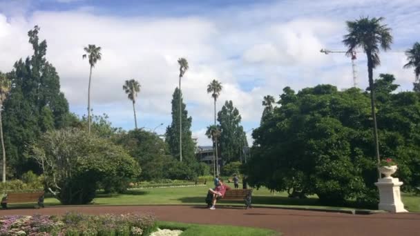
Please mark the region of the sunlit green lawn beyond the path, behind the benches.
<svg viewBox="0 0 420 236"><path fill-rule="evenodd" d="M186 204L204 205L204 197L207 194L207 186L190 186L178 188L147 188L130 190L127 194L98 194L93 204L100 205L164 205L164 204ZM252 204L254 206L274 206L290 208L325 208L325 209L350 209L354 206L322 206L316 196L309 196L307 199L292 199L287 193L270 193L267 188L254 190ZM409 211L420 212L420 197L403 194L405 208ZM46 198L46 205L59 204L57 199ZM244 206L239 201L221 201L220 204L230 206Z"/></svg>

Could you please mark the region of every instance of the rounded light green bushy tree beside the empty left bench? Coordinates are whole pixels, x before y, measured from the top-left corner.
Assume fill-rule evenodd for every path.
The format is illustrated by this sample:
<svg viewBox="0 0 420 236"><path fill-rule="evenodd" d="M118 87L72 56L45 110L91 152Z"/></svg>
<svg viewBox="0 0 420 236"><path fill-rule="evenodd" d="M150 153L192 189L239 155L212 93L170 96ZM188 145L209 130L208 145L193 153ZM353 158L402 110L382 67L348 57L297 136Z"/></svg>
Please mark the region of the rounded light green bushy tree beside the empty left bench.
<svg viewBox="0 0 420 236"><path fill-rule="evenodd" d="M77 128L54 130L32 146L46 186L62 204L87 204L103 179L137 177L140 167L122 147ZM127 181L128 182L128 181Z"/></svg>

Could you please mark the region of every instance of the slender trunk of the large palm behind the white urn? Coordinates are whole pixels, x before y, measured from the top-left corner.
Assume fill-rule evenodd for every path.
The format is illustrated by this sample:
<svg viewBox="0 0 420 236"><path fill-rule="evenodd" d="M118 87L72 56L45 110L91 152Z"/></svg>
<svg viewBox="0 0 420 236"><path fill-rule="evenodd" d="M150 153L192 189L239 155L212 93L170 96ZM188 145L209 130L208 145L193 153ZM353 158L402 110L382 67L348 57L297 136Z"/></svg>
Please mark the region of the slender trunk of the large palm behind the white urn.
<svg viewBox="0 0 420 236"><path fill-rule="evenodd" d="M373 61L372 54L367 52L367 73L369 76L369 88L370 88L370 106L372 109L372 118L373 118L373 134L375 142L375 155L376 161L378 164L381 162L381 157L379 157L379 141L378 141L378 128L376 124L376 112L375 112L375 92L374 92L374 83L373 83ZM378 176L381 178L381 173L378 170Z"/></svg>

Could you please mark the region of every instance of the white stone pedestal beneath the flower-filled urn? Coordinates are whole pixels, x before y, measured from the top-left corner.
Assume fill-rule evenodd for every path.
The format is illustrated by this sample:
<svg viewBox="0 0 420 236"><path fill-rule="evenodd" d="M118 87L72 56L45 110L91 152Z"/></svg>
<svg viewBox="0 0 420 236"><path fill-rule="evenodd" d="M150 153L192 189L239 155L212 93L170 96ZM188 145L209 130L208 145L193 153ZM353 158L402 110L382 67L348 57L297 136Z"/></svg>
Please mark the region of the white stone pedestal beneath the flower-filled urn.
<svg viewBox="0 0 420 236"><path fill-rule="evenodd" d="M388 210L391 213L406 213L401 201L399 187L403 185L398 178L385 177L378 179L375 185L379 188L379 210Z"/></svg>

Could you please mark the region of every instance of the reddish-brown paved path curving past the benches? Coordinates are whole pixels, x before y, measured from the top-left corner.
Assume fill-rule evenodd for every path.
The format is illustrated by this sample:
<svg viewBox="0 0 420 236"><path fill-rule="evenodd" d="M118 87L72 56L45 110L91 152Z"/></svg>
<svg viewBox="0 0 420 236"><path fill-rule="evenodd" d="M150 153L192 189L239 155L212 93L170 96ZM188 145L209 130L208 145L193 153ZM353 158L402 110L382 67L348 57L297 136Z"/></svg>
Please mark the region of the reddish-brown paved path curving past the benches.
<svg viewBox="0 0 420 236"><path fill-rule="evenodd" d="M350 215L274 208L217 208L202 206L57 206L44 209L0 210L0 215L58 215L66 211L87 214L153 213L163 221L227 224L271 228L293 235L420 235L420 213Z"/></svg>

